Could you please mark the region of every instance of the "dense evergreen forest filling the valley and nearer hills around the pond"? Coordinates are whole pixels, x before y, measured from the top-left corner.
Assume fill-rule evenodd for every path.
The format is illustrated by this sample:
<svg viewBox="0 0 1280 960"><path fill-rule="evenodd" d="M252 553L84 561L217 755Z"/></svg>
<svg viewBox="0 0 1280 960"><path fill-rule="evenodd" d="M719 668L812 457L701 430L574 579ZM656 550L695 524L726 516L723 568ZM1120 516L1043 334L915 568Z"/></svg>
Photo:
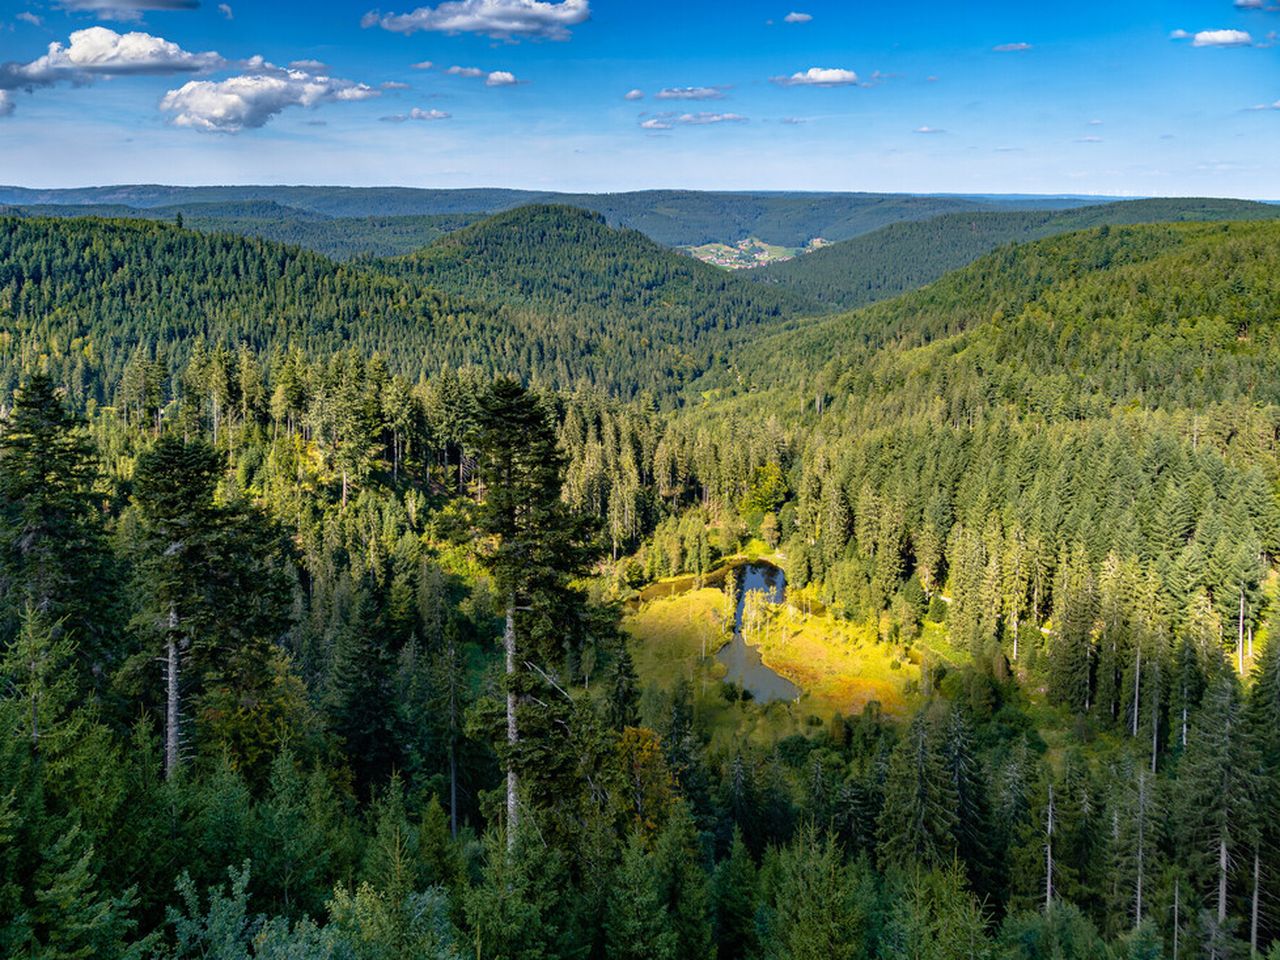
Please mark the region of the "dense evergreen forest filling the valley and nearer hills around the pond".
<svg viewBox="0 0 1280 960"><path fill-rule="evenodd" d="M1280 957L1280 224L1098 215L0 218L0 955Z"/></svg>

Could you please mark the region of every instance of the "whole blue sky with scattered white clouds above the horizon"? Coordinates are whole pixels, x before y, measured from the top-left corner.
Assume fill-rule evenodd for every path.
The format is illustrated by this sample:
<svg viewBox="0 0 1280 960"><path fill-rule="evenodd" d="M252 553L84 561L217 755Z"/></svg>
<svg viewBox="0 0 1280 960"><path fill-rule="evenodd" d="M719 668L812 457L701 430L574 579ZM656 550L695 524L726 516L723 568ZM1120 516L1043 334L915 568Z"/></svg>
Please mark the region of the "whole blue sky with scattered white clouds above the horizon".
<svg viewBox="0 0 1280 960"><path fill-rule="evenodd" d="M0 182L1280 198L1280 0L387 4L0 0Z"/></svg>

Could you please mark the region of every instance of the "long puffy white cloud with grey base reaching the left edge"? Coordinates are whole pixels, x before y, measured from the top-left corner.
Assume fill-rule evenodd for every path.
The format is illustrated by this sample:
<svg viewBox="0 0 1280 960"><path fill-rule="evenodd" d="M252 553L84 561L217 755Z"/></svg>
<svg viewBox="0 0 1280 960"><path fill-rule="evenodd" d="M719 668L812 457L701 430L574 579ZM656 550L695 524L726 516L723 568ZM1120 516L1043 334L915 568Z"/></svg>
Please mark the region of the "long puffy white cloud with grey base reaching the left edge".
<svg viewBox="0 0 1280 960"><path fill-rule="evenodd" d="M91 83L99 77L165 76L200 73L224 67L212 51L191 52L164 37L150 33L116 33L106 27L88 27L70 35L67 44L52 42L44 56L29 63L0 64L0 91L50 87L55 83ZM13 97L6 96L13 113Z"/></svg>

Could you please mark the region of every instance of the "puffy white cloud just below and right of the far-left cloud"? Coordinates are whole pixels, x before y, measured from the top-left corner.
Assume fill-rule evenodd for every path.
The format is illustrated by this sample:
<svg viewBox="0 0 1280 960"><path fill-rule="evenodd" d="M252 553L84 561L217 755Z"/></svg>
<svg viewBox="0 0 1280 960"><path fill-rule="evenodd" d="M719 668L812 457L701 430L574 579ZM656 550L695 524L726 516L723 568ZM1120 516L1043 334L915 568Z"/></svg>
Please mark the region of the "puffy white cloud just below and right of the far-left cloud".
<svg viewBox="0 0 1280 960"><path fill-rule="evenodd" d="M239 133L264 125L289 106L316 108L376 96L379 92L365 83L274 69L224 81L191 81L165 93L160 109L175 114L178 127Z"/></svg>

